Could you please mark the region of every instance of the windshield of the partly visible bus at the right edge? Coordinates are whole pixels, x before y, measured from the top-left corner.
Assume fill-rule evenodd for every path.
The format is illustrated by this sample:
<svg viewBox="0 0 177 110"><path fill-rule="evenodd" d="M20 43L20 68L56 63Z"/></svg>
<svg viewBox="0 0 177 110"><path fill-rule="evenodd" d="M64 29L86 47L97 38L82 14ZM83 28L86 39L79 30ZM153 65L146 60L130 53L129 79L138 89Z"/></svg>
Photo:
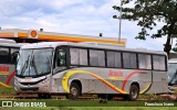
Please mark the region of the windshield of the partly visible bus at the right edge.
<svg viewBox="0 0 177 110"><path fill-rule="evenodd" d="M168 64L168 81L171 85L177 84L177 63L169 63Z"/></svg>

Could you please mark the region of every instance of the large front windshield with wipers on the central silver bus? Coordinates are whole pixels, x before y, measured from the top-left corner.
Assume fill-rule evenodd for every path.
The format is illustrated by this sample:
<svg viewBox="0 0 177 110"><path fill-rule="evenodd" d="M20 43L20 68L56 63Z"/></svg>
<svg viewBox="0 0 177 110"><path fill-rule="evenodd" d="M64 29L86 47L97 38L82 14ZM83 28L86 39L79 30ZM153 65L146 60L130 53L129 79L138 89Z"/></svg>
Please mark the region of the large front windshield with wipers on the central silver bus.
<svg viewBox="0 0 177 110"><path fill-rule="evenodd" d="M50 74L52 48L22 50L17 64L17 76L38 77Z"/></svg>

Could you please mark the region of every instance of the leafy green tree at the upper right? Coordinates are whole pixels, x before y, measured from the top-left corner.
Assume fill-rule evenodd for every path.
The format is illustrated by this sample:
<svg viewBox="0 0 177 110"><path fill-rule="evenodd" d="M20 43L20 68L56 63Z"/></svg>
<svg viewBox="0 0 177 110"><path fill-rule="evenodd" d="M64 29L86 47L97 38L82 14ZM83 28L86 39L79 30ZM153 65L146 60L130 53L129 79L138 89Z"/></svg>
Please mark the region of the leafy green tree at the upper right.
<svg viewBox="0 0 177 110"><path fill-rule="evenodd" d="M135 38L167 37L164 52L169 56L170 41L177 37L177 0L122 0L123 4L132 2L133 8L122 8L122 19L137 21L137 25L142 26L142 31ZM121 11L118 6L114 6L113 9ZM117 16L113 15L113 18ZM163 22L164 25L155 34L149 35L148 32L157 25L157 22Z"/></svg>

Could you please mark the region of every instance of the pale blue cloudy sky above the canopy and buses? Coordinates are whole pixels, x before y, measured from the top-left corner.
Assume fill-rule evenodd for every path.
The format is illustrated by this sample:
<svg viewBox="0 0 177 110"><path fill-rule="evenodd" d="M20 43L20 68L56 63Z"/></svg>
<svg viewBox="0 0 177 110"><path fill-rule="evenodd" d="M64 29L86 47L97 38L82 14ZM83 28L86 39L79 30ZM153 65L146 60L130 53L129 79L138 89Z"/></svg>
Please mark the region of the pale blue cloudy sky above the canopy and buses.
<svg viewBox="0 0 177 110"><path fill-rule="evenodd" d="M113 15L119 13L112 7L119 3L119 0L0 0L0 28L94 36L103 33L103 36L118 38L119 21ZM136 22L122 20L121 37L127 38L126 47L164 50L165 37L135 40L139 31Z"/></svg>

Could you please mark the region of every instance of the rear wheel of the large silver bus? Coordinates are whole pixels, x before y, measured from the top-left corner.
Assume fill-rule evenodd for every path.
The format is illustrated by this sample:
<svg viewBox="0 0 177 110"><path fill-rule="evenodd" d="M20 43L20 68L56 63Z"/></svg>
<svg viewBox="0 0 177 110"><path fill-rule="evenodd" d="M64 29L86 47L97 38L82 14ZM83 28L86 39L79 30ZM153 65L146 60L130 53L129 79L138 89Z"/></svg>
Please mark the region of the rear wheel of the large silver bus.
<svg viewBox="0 0 177 110"><path fill-rule="evenodd" d="M128 100L135 101L138 98L139 88L136 85L132 85L129 89Z"/></svg>

